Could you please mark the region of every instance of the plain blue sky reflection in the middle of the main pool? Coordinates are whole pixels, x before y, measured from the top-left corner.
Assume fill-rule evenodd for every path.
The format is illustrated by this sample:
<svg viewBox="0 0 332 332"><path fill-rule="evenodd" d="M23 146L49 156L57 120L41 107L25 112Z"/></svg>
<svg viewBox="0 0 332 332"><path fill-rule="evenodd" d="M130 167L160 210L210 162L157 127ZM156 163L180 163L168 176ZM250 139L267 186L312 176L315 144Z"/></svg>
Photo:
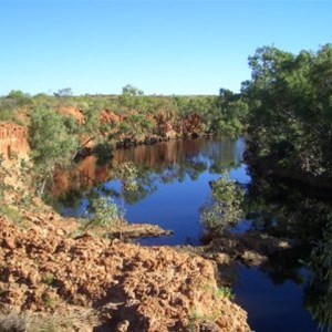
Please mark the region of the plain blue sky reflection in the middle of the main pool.
<svg viewBox="0 0 332 332"><path fill-rule="evenodd" d="M231 178L248 183L246 167L232 169ZM157 184L157 190L138 204L126 206L126 218L132 222L158 224L165 229L174 230L174 236L156 239L143 239L142 245L198 245L201 229L200 208L208 203L211 194L209 181L220 177L205 170L197 180L188 176L185 180L172 184Z"/></svg>

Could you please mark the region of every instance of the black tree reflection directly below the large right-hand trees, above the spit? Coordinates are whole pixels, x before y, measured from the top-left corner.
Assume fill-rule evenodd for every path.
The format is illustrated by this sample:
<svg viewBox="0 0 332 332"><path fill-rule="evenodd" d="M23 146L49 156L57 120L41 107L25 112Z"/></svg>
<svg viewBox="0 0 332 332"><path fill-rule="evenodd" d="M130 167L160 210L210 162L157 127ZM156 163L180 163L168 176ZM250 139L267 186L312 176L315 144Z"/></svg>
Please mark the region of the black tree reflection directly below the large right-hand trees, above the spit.
<svg viewBox="0 0 332 332"><path fill-rule="evenodd" d="M248 187L247 218L258 230L273 236L311 241L321 235L332 206L294 184L251 174Z"/></svg>

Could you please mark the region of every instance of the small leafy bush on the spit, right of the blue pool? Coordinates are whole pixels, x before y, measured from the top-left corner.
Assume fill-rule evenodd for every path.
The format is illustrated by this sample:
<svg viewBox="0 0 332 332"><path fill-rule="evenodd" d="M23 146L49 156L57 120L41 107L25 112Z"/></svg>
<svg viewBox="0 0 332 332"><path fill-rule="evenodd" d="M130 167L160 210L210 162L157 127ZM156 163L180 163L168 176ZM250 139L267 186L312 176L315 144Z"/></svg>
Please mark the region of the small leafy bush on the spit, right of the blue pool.
<svg viewBox="0 0 332 332"><path fill-rule="evenodd" d="M245 190L229 179L227 173L212 184L212 204L203 211L205 227L214 234L221 234L243 217Z"/></svg>

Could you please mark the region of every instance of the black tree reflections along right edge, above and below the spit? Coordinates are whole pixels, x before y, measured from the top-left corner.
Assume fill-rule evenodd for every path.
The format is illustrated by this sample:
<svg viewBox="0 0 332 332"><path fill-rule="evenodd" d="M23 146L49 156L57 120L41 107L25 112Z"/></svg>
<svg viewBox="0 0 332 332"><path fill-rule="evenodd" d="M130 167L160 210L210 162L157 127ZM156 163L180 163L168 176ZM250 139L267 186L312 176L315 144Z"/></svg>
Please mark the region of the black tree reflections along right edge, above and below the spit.
<svg viewBox="0 0 332 332"><path fill-rule="evenodd" d="M253 228L300 239L301 247L276 255L263 271L276 283L292 279L304 287L304 305L321 326L332 329L332 205L318 193L255 174L248 188L247 218ZM300 190L302 189L302 190ZM309 282L301 268L310 268ZM304 264L304 266L305 266ZM303 271L302 271L303 272Z"/></svg>

